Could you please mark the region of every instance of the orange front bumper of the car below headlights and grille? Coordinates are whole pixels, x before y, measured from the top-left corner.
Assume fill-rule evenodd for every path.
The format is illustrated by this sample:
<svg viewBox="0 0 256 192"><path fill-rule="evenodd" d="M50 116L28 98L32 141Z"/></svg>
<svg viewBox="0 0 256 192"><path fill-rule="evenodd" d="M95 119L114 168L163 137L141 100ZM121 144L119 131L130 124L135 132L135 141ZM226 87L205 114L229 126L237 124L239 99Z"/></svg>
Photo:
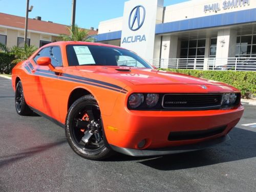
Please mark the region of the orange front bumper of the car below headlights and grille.
<svg viewBox="0 0 256 192"><path fill-rule="evenodd" d="M166 147L200 144L226 136L239 122L243 111L242 105L236 109L206 111L130 111L120 106L111 116L102 115L102 120L106 139L114 150L120 151L116 148L119 147L127 153L131 150L155 153L162 148L160 151L166 151ZM224 130L218 132L222 127ZM183 132L186 137L182 136ZM176 134L173 140L169 137L172 133ZM196 133L196 137L190 133ZM142 140L146 144L139 147Z"/></svg>

